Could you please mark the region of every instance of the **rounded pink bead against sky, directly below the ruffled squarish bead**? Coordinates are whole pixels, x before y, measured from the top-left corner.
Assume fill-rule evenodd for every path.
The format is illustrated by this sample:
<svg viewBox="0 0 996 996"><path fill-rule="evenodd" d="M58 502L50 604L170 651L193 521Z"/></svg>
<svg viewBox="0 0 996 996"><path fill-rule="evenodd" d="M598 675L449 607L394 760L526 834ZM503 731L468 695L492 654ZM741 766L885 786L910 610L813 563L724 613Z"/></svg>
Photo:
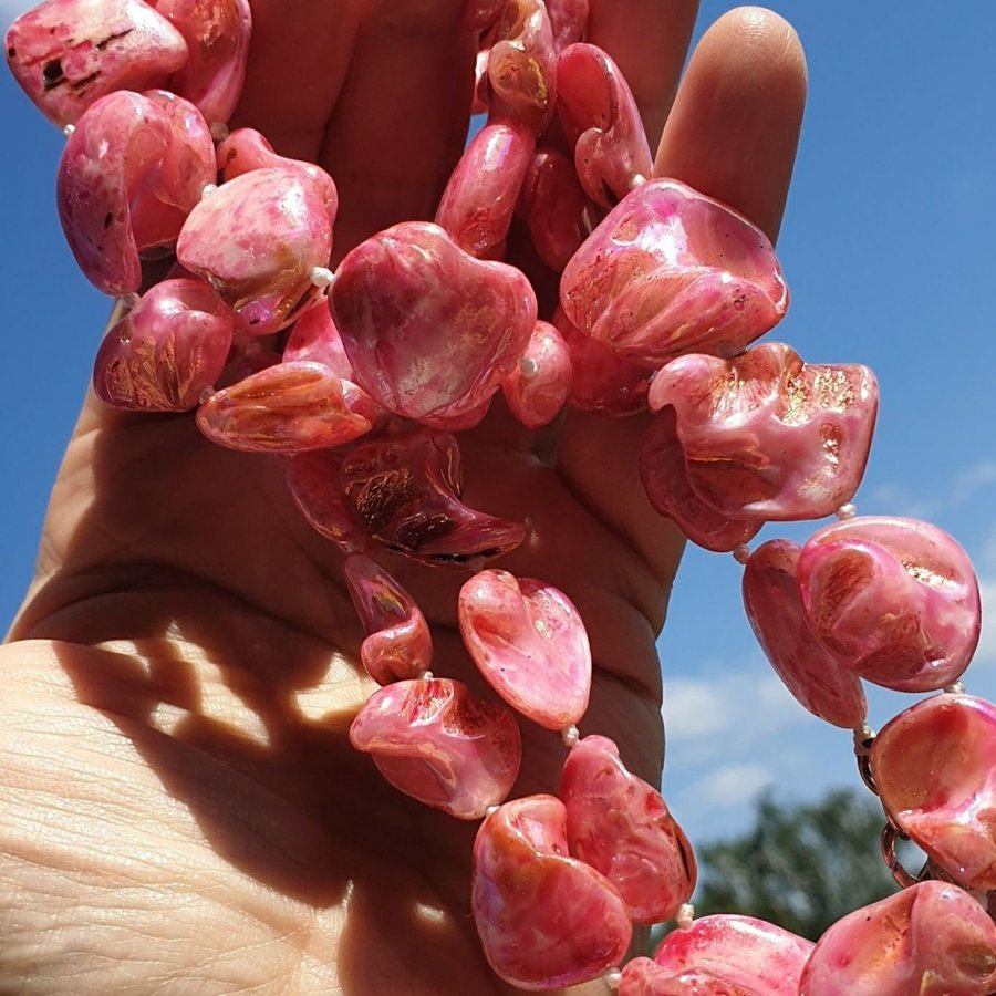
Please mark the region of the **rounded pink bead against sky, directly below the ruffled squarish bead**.
<svg viewBox="0 0 996 996"><path fill-rule="evenodd" d="M898 692L958 679L978 644L978 581L946 532L860 516L815 533L799 556L813 635L845 667Z"/></svg>

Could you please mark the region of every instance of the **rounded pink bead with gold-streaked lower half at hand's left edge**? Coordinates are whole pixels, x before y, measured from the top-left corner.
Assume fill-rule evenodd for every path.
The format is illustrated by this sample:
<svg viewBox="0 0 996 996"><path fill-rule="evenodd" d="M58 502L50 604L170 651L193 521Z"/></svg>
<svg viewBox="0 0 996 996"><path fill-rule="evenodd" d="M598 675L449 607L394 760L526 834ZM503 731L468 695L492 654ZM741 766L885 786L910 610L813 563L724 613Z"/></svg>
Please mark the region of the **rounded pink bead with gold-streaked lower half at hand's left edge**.
<svg viewBox="0 0 996 996"><path fill-rule="evenodd" d="M116 408L186 412L225 369L231 315L199 280L152 288L104 338L93 386Z"/></svg>

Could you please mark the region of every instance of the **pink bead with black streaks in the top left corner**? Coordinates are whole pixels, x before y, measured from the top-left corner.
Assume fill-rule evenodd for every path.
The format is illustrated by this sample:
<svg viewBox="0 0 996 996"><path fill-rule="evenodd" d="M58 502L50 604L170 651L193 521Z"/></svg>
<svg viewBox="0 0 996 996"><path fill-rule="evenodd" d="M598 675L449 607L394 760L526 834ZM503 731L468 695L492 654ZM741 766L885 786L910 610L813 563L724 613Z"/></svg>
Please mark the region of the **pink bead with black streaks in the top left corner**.
<svg viewBox="0 0 996 996"><path fill-rule="evenodd" d="M187 61L183 34L142 0L46 0L3 43L14 79L60 127L115 91L163 86Z"/></svg>

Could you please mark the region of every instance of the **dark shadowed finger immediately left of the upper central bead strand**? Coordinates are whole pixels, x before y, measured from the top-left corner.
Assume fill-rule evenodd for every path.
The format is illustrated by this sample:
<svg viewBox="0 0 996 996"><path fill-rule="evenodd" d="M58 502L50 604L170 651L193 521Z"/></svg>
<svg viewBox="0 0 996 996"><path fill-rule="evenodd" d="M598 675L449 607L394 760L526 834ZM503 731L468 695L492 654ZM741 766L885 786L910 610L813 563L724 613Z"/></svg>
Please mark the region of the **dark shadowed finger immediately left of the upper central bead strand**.
<svg viewBox="0 0 996 996"><path fill-rule="evenodd" d="M432 220L467 135L476 39L461 0L376 0L322 144L340 191L338 255Z"/></svg>

